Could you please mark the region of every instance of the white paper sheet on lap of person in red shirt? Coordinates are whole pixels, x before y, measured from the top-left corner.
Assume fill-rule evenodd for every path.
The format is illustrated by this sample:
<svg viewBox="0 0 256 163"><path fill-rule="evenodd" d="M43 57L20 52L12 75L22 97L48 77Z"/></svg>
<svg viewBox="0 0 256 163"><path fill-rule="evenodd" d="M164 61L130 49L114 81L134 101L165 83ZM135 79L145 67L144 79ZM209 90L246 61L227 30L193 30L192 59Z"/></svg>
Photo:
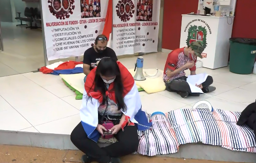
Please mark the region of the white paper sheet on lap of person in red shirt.
<svg viewBox="0 0 256 163"><path fill-rule="evenodd" d="M208 74L197 74L197 75L189 75L186 79L186 82L189 84L191 89L191 93L203 93L202 89L196 87L195 85L199 85L205 82Z"/></svg>

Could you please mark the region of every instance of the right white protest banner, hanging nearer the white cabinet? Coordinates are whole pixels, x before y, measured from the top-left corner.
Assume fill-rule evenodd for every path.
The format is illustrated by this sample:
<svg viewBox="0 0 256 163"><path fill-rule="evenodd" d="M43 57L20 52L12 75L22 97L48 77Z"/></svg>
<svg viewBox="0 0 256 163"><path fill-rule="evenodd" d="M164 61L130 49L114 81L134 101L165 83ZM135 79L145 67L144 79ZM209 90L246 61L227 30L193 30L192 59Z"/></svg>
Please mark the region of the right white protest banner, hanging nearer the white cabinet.
<svg viewBox="0 0 256 163"><path fill-rule="evenodd" d="M160 0L113 0L116 55L157 52Z"/></svg>

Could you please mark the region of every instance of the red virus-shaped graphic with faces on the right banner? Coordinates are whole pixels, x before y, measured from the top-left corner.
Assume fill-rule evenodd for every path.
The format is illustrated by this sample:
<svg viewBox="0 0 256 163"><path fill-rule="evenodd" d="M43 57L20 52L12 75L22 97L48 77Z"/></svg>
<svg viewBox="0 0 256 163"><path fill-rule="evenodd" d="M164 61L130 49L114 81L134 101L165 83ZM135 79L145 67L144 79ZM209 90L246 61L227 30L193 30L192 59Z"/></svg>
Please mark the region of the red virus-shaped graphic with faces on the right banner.
<svg viewBox="0 0 256 163"><path fill-rule="evenodd" d="M129 21L135 13L135 5L132 0L119 0L116 4L116 15L121 19L121 21Z"/></svg>

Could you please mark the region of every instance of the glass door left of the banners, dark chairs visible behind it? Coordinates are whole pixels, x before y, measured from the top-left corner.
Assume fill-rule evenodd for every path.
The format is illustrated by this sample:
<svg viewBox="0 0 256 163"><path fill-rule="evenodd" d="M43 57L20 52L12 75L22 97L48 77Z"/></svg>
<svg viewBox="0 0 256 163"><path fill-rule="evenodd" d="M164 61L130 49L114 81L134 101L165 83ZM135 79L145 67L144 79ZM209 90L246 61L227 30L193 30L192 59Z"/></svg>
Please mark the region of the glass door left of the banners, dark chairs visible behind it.
<svg viewBox="0 0 256 163"><path fill-rule="evenodd" d="M33 20L38 13L38 0L0 0L0 76L45 66L41 24L23 19L32 15Z"/></svg>

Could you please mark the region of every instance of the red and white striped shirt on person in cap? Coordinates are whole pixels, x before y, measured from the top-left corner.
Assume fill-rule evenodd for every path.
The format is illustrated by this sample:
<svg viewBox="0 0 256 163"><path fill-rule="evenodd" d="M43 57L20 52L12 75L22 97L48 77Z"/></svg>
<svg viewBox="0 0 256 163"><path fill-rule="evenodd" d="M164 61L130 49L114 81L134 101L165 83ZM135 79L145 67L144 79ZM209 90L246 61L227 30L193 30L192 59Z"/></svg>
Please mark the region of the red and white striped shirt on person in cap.
<svg viewBox="0 0 256 163"><path fill-rule="evenodd" d="M176 70L182 66L184 66L187 62L190 61L189 57L185 56L185 48L178 48L176 50L173 50L171 53L168 54L165 66L164 66L164 72L163 72L163 81L169 82L171 80L177 79L179 77L185 76L186 73L184 70L180 72L177 75L174 75L172 77L167 76L167 70ZM195 60L196 62L196 60ZM192 67L190 70L195 71L196 67ZM187 69L186 69L187 70Z"/></svg>

